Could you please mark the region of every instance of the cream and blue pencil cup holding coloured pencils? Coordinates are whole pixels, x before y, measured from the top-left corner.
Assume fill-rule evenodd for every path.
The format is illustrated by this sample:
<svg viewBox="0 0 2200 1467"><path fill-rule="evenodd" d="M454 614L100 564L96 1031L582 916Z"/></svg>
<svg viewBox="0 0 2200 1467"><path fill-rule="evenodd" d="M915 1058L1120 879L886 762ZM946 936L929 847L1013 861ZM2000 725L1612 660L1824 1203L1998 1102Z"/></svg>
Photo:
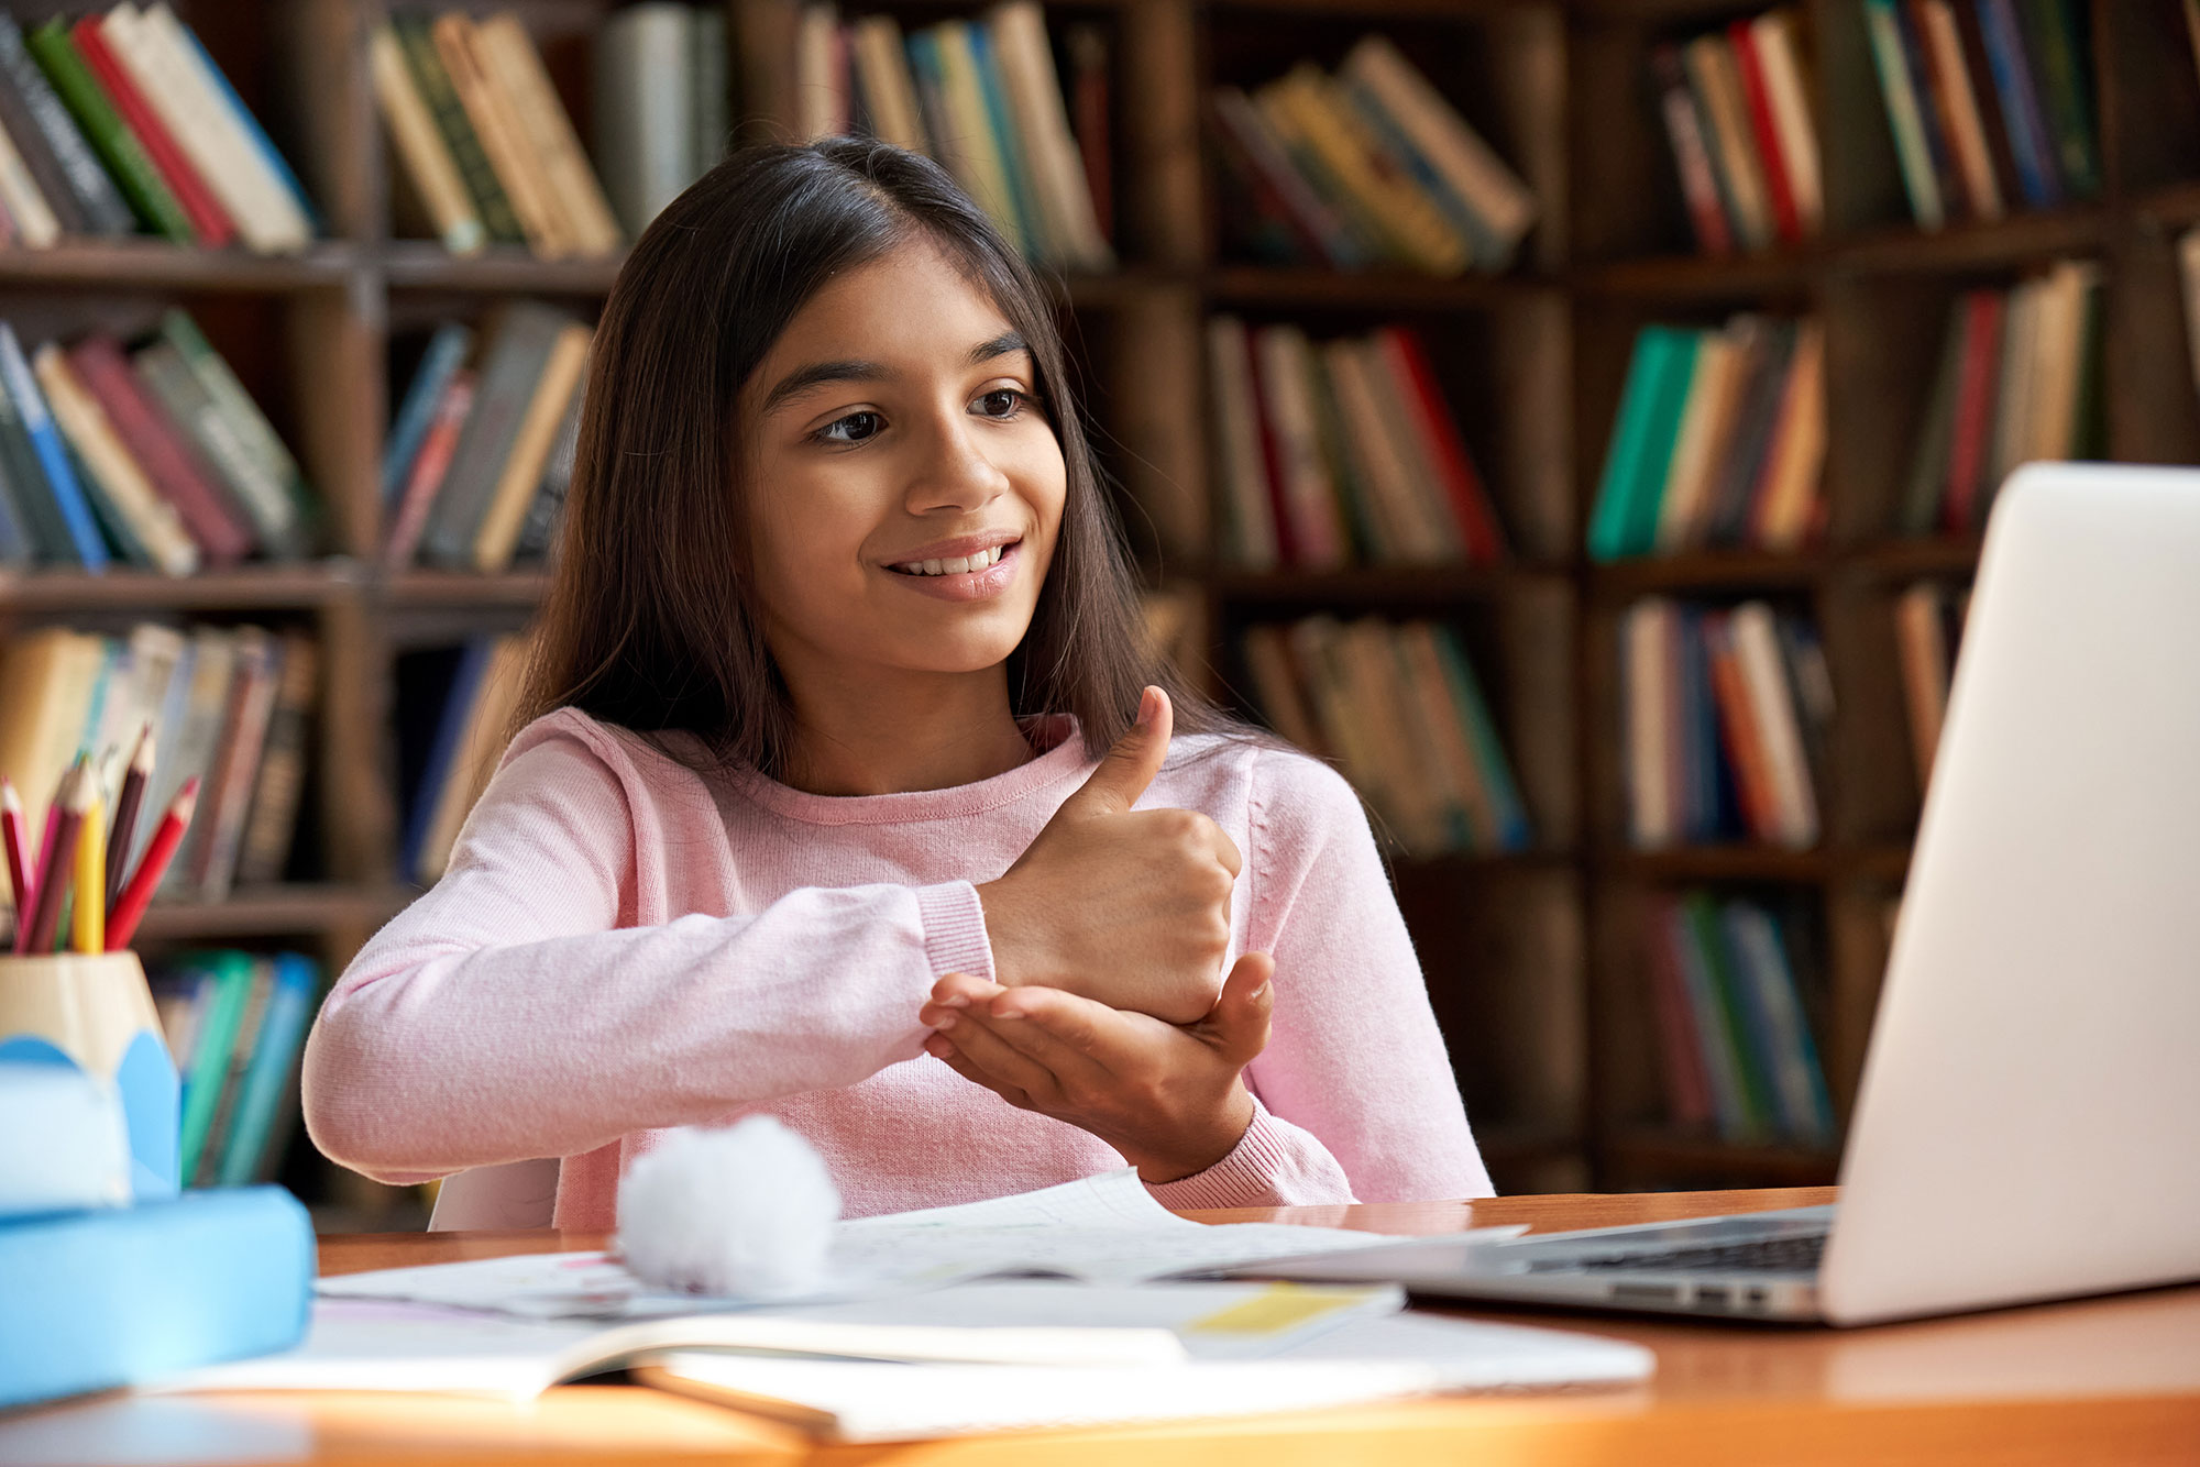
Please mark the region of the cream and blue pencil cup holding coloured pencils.
<svg viewBox="0 0 2200 1467"><path fill-rule="evenodd" d="M176 1062L136 952L0 957L0 1060L68 1065L112 1084L136 1201L176 1196Z"/></svg>

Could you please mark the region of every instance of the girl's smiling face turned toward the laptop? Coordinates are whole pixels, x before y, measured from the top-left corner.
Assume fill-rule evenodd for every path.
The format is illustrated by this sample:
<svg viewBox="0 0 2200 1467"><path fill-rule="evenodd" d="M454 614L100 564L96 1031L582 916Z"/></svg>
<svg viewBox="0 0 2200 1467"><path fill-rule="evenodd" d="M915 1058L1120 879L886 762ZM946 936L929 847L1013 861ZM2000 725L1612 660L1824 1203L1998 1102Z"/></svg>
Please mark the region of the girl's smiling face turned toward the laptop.
<svg viewBox="0 0 2200 1467"><path fill-rule="evenodd" d="M972 673L1023 640L1067 471L1030 350L928 240L832 279L741 389L763 633L790 686Z"/></svg>

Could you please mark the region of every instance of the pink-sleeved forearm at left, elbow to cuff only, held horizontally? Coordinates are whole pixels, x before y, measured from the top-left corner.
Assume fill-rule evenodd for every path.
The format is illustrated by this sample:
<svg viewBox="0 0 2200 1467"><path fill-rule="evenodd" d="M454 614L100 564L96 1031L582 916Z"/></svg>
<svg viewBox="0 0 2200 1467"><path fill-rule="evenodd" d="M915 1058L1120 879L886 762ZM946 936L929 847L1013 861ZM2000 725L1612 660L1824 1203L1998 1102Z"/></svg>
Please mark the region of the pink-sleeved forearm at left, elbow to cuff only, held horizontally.
<svg viewBox="0 0 2200 1467"><path fill-rule="evenodd" d="M306 1122L385 1181L568 1157L913 1058L935 977L983 968L968 886L796 891L763 913L482 944L387 928L306 1047Z"/></svg>

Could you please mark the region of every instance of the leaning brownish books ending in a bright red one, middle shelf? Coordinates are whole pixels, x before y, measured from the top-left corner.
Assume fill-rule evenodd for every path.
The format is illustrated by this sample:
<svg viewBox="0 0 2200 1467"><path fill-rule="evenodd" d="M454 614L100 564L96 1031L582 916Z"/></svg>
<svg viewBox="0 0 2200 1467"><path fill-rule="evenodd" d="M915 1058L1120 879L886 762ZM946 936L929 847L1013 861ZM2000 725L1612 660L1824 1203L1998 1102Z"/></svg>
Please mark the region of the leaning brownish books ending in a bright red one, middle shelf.
<svg viewBox="0 0 2200 1467"><path fill-rule="evenodd" d="M1214 460L1239 565L1494 563L1505 530L1421 339L1313 343L1208 319Z"/></svg>

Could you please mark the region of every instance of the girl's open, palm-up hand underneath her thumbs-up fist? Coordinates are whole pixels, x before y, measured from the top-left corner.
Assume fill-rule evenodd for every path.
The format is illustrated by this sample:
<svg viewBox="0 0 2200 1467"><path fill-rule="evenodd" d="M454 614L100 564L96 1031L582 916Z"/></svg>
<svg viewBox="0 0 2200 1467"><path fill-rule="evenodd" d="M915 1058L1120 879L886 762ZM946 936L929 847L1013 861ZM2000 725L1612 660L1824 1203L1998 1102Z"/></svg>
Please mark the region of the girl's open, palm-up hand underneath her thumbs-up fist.
<svg viewBox="0 0 2200 1467"><path fill-rule="evenodd" d="M1190 1025L950 972L917 1021L935 1029L926 1054L964 1080L1093 1133L1144 1181L1179 1181L1228 1157L1252 1124L1243 1069L1267 1047L1274 972L1276 959L1247 952Z"/></svg>

